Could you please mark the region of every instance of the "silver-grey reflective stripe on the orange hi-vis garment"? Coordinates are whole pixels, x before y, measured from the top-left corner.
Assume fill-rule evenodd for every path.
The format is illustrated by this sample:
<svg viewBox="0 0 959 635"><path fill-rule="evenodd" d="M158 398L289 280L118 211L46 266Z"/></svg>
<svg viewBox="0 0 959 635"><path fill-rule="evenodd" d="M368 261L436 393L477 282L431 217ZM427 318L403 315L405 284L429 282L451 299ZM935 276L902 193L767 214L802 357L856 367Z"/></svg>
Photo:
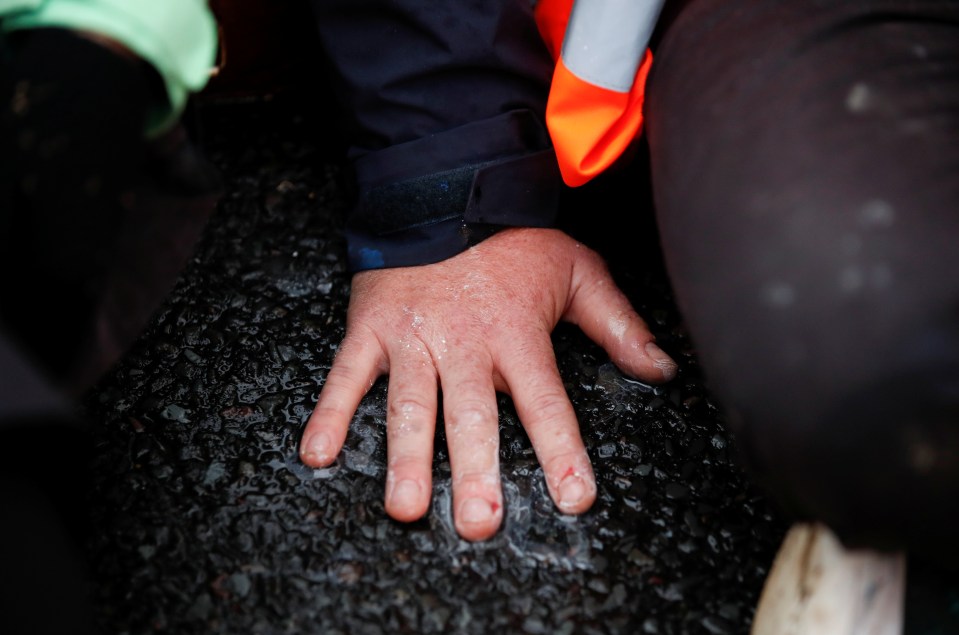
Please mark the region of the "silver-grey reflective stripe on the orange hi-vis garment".
<svg viewBox="0 0 959 635"><path fill-rule="evenodd" d="M590 84L629 92L664 0L576 0L563 64Z"/></svg>

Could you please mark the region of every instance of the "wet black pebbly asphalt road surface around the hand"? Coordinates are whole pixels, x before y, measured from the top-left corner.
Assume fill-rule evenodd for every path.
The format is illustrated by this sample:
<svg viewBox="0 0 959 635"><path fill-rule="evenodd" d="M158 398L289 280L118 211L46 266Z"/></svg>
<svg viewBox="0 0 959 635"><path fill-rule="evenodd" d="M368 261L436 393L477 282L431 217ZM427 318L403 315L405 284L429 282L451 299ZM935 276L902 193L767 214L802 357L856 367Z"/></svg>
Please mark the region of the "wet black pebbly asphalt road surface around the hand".
<svg viewBox="0 0 959 635"><path fill-rule="evenodd" d="M506 397L505 522L485 543L453 530L441 426L428 515L384 513L384 381L332 467L299 462L344 332L349 190L337 140L293 102L194 113L223 195L148 329L84 401L101 629L748 633L787 523L737 462L648 226L610 261L679 377L631 381L578 330L555 333L598 475L588 513L557 514Z"/></svg>

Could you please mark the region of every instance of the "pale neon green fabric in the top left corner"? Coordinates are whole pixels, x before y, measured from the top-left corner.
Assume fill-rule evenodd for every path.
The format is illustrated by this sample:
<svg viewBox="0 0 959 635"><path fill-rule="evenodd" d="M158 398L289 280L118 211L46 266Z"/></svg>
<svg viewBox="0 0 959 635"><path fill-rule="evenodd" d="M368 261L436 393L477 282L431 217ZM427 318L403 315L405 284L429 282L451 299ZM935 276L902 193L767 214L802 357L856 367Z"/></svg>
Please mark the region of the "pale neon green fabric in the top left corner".
<svg viewBox="0 0 959 635"><path fill-rule="evenodd" d="M216 20L206 0L0 0L3 32L37 27L93 31L152 64L168 103L151 113L150 136L176 122L190 94L206 85L216 59Z"/></svg>

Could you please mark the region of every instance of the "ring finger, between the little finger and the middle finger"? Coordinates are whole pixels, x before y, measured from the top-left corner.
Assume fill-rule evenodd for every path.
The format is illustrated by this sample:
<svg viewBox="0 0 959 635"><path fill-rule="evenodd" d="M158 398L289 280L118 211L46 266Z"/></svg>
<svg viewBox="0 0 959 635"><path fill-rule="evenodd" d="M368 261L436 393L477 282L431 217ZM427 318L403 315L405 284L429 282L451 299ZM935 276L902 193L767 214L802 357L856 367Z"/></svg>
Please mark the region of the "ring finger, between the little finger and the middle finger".
<svg viewBox="0 0 959 635"><path fill-rule="evenodd" d="M424 347L391 360L385 506L396 520L416 520L429 507L437 401L436 371Z"/></svg>

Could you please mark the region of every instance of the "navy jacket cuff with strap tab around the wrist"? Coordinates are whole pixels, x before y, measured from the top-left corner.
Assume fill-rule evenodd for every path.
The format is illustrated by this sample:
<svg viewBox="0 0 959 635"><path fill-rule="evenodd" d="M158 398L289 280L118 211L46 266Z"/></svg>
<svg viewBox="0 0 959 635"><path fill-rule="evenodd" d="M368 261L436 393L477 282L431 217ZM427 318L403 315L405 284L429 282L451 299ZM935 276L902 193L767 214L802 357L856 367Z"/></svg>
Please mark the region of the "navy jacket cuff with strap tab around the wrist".
<svg viewBox="0 0 959 635"><path fill-rule="evenodd" d="M449 167L455 166L455 167ZM352 271L445 260L504 227L552 227L562 178L529 111L367 154L346 227Z"/></svg>

